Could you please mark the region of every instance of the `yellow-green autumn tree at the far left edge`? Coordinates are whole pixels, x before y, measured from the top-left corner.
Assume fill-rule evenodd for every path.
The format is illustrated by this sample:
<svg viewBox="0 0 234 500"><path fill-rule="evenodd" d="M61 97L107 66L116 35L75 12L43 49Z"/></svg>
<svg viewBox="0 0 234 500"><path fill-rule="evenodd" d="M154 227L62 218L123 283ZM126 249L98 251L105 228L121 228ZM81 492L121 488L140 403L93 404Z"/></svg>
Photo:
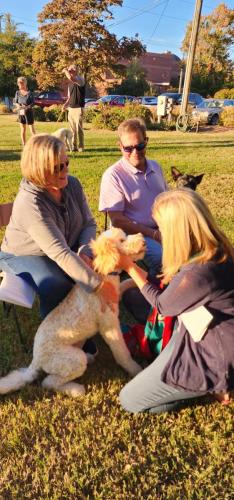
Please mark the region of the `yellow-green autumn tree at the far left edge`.
<svg viewBox="0 0 234 500"><path fill-rule="evenodd" d="M35 87L32 69L32 52L35 40L18 30L10 14L4 15L3 30L0 33L0 95L13 96L18 76L29 80Z"/></svg>

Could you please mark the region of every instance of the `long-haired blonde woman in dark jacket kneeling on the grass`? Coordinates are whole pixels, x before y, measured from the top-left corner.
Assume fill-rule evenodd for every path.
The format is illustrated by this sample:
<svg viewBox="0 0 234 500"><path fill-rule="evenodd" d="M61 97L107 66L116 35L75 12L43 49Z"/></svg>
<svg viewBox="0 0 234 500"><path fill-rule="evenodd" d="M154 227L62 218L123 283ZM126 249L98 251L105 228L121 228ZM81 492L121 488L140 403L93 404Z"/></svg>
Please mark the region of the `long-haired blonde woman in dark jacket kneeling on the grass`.
<svg viewBox="0 0 234 500"><path fill-rule="evenodd" d="M150 284L126 256L119 264L145 299L177 322L162 353L122 389L121 404L134 413L161 413L208 393L227 402L234 388L234 250L190 189L160 194L153 217L162 235L162 281L168 286L162 291ZM188 311L193 313L182 314Z"/></svg>

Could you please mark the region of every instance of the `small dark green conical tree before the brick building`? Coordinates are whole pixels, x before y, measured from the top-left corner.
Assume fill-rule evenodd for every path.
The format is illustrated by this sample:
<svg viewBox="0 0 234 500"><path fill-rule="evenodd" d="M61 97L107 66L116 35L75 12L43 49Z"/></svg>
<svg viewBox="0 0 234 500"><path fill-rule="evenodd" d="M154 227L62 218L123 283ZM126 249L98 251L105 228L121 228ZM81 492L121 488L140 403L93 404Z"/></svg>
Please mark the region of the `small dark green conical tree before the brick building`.
<svg viewBox="0 0 234 500"><path fill-rule="evenodd" d="M141 68L138 60L134 60L127 66L126 76L119 85L115 85L110 90L112 94L126 94L140 96L150 90L150 86L145 78L145 71Z"/></svg>

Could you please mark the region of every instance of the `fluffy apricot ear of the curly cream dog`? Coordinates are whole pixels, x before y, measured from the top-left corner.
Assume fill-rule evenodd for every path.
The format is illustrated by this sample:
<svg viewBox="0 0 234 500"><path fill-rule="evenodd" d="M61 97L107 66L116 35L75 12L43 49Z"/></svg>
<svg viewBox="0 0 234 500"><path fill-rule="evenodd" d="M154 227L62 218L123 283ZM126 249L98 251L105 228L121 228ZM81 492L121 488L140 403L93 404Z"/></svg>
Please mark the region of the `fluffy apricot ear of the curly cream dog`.
<svg viewBox="0 0 234 500"><path fill-rule="evenodd" d="M105 234L101 235L96 241L91 241L91 248L94 255L93 267L95 271L107 276L117 268L119 252L113 239L107 238Z"/></svg>

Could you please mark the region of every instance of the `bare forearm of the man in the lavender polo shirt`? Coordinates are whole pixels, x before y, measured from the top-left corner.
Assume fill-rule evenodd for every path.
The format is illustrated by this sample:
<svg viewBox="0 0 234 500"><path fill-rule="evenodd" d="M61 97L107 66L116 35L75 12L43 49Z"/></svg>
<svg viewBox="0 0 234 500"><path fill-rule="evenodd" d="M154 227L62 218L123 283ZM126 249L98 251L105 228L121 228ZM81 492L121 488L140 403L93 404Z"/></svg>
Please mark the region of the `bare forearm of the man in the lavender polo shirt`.
<svg viewBox="0 0 234 500"><path fill-rule="evenodd" d="M120 211L109 211L108 215L110 217L112 226L119 227L127 234L142 233L143 236L148 236L153 240L161 243L161 234L159 229L152 229L145 224L139 224L132 222L123 212Z"/></svg>

